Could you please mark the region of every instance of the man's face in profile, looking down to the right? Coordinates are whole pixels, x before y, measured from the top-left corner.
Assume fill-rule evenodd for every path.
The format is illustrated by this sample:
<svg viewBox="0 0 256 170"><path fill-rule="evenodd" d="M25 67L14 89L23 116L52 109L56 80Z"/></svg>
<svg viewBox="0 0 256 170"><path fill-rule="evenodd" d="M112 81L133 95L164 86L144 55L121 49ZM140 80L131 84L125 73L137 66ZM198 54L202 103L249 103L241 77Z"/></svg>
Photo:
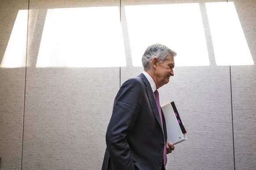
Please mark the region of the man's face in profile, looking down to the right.
<svg viewBox="0 0 256 170"><path fill-rule="evenodd" d="M171 54L168 54L165 61L160 63L157 61L155 66L155 76L157 89L167 84L171 76L174 76L173 68L175 66L174 58Z"/></svg>

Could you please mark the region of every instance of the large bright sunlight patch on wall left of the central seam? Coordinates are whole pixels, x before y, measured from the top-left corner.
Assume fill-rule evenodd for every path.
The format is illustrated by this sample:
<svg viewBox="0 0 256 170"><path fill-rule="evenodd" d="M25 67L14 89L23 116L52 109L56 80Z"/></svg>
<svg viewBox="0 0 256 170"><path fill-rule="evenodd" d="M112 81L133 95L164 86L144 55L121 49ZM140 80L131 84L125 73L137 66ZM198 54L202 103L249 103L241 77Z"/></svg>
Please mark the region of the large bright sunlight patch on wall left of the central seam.
<svg viewBox="0 0 256 170"><path fill-rule="evenodd" d="M126 66L118 7L48 9L37 67Z"/></svg>

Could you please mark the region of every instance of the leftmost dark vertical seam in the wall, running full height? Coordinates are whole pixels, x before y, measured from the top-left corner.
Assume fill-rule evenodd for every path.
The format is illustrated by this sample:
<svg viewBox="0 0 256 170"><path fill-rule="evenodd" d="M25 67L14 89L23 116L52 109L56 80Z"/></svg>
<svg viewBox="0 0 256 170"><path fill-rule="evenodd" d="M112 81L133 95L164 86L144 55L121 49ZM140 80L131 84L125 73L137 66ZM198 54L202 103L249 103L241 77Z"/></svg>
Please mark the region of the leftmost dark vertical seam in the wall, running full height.
<svg viewBox="0 0 256 170"><path fill-rule="evenodd" d="M29 41L29 0L28 0L28 18L27 18L26 60L25 60L25 83L24 83L24 105L23 105L21 170L22 170L22 162L23 162L23 143L24 143L24 123L25 123L25 102L26 102L26 77L27 77L28 41Z"/></svg>

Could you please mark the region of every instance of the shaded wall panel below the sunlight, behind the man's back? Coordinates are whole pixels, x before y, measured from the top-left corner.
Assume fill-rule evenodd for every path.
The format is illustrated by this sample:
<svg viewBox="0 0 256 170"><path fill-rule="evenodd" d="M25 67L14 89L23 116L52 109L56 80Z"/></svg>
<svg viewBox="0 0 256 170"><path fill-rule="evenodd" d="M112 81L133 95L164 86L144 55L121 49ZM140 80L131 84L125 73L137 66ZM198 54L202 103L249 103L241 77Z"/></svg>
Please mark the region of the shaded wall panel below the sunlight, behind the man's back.
<svg viewBox="0 0 256 170"><path fill-rule="evenodd" d="M24 169L100 169L119 68L29 68Z"/></svg>

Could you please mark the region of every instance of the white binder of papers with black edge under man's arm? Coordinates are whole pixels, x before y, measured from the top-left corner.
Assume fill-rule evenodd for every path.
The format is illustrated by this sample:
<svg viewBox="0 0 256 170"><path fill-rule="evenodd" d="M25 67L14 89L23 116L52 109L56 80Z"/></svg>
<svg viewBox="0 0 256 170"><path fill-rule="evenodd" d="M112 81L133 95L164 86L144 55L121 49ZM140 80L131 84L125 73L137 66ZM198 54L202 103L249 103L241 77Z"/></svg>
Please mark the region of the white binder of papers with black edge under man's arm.
<svg viewBox="0 0 256 170"><path fill-rule="evenodd" d="M183 126L174 102L167 103L161 106L161 108L165 115L167 142L172 142L175 145L187 140L187 131Z"/></svg>

